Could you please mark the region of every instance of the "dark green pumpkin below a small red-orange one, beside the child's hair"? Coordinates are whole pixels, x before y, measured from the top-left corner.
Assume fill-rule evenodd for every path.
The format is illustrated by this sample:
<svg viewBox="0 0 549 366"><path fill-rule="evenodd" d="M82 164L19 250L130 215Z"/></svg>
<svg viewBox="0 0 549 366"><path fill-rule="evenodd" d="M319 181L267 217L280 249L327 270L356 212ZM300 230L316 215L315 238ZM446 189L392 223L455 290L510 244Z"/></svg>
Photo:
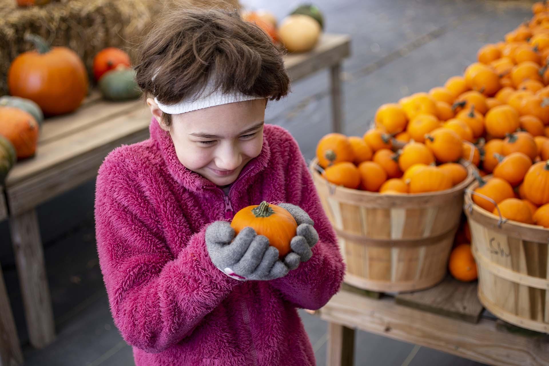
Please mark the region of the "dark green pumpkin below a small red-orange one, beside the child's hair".
<svg viewBox="0 0 549 366"><path fill-rule="evenodd" d="M105 72L99 79L99 90L107 100L131 100L141 96L141 89L135 81L135 70L121 66Z"/></svg>

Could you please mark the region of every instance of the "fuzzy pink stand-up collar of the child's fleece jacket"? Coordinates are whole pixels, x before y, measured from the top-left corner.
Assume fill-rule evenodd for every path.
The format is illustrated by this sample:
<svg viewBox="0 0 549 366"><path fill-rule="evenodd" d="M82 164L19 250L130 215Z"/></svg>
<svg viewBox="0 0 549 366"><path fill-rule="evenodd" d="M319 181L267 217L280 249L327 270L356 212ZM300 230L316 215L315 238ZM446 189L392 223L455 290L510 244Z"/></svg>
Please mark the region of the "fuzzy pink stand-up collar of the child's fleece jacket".
<svg viewBox="0 0 549 366"><path fill-rule="evenodd" d="M149 125L150 137L156 143L156 146L160 149L160 153L166 162L168 171L171 176L176 179L177 182L183 185L188 190L198 192L205 188L215 188L216 185L204 178L198 173L195 173L187 169L181 161L177 158L175 146L173 145L170 133L160 128L158 121L153 117ZM263 147L261 153L250 160L246 166L244 166L242 172L240 172L239 178L244 176L249 178L255 176L255 174L264 170L271 157L271 149L266 138L266 134L263 135ZM237 181L239 181L237 178ZM244 183L244 182L239 182Z"/></svg>

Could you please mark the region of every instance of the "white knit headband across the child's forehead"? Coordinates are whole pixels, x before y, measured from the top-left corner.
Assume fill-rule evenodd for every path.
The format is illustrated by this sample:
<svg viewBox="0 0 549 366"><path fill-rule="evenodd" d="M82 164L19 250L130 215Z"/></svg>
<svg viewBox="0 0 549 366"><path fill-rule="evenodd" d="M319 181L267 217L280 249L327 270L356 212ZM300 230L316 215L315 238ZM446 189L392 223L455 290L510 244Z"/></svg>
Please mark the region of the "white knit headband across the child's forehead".
<svg viewBox="0 0 549 366"><path fill-rule="evenodd" d="M156 76L156 75L155 75ZM154 80L154 77L153 77ZM180 100L175 104L162 104L154 98L154 102L158 104L158 108L167 114L182 114L191 112L197 109L212 107L215 105L229 104L236 102L245 102L246 100L264 99L262 97L254 97L239 92L223 93L221 88L214 90L214 82L210 79L200 95L193 95Z"/></svg>

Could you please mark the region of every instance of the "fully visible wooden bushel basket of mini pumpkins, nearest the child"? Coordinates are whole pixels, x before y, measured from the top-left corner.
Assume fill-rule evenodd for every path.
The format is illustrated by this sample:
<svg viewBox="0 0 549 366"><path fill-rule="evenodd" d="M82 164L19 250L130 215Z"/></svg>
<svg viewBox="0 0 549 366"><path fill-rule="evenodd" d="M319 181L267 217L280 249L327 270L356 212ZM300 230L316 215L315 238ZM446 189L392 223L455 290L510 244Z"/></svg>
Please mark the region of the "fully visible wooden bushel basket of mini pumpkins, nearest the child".
<svg viewBox="0 0 549 366"><path fill-rule="evenodd" d="M463 190L379 194L329 183L310 165L324 211L347 264L346 283L380 292L429 288L444 279L460 224Z"/></svg>

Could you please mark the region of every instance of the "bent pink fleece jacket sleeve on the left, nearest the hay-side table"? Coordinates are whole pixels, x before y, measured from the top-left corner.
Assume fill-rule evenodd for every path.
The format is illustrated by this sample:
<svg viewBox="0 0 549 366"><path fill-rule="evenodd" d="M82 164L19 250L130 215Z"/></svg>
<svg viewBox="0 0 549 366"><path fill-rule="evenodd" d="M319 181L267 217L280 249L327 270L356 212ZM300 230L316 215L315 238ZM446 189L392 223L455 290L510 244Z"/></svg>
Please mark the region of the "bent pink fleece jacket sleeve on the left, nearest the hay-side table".
<svg viewBox="0 0 549 366"><path fill-rule="evenodd" d="M161 352L189 335L238 284L211 262L201 228L173 257L150 205L105 166L96 185L96 235L111 313L122 337ZM190 236L190 235L189 235Z"/></svg>

